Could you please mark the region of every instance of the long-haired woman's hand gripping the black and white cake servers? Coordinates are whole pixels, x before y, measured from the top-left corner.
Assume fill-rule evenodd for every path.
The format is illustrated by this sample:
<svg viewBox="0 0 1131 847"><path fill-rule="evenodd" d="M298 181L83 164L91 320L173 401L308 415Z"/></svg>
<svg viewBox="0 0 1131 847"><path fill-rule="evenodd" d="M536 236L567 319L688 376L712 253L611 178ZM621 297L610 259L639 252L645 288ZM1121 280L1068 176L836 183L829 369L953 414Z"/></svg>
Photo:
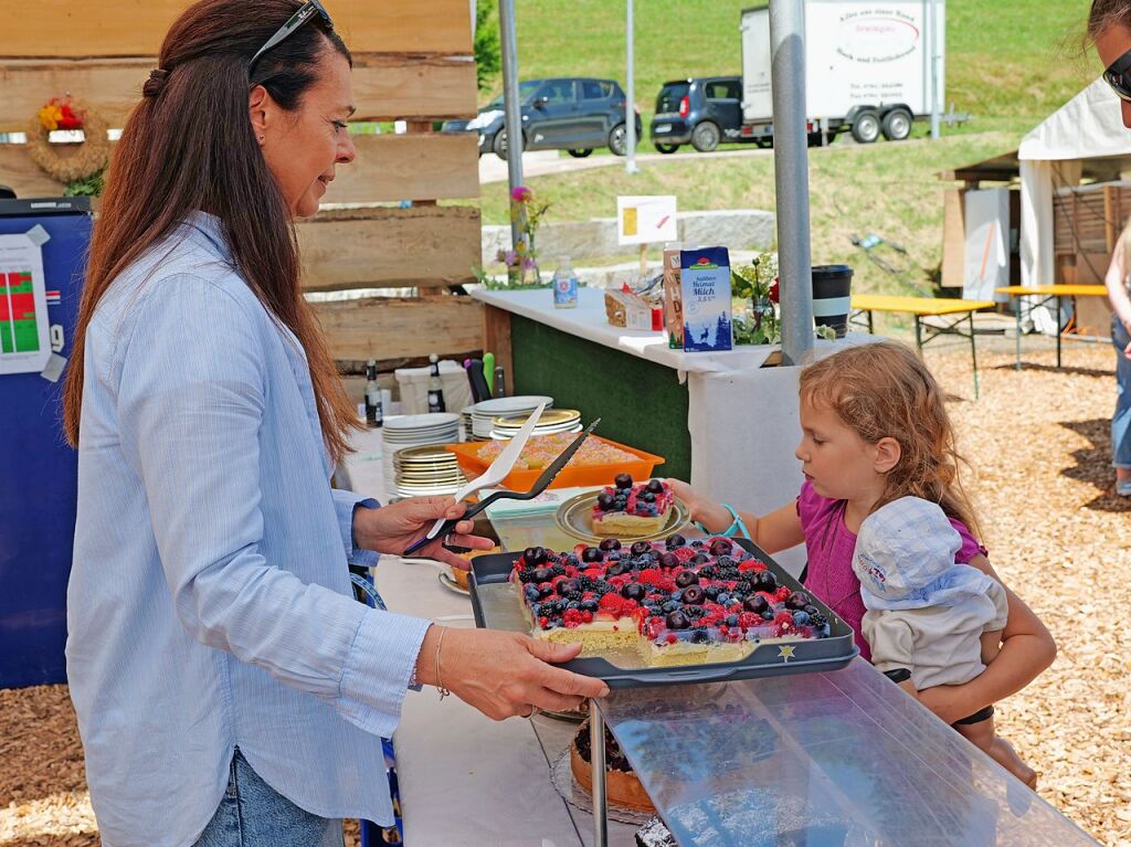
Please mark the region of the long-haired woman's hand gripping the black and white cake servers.
<svg viewBox="0 0 1131 847"><path fill-rule="evenodd" d="M422 535L428 533L437 519L450 520L467 511L466 503L457 503L451 498L411 498L380 509L354 511L354 541L359 547L375 550L378 553L400 555ZM469 535L474 524L461 520L450 537L451 544L473 550L489 550L494 545L489 538ZM422 547L420 554L435 559L460 570L468 570L468 561L443 548L443 538Z"/></svg>

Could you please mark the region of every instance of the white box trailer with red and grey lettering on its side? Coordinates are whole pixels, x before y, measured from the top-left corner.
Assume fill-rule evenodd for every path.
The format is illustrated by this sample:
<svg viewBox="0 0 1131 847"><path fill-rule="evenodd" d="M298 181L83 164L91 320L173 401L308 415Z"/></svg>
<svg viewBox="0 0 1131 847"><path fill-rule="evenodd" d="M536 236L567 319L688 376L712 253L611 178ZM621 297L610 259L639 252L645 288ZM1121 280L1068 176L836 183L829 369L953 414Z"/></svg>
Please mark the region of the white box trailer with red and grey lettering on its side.
<svg viewBox="0 0 1131 847"><path fill-rule="evenodd" d="M944 0L805 0L810 142L910 135L946 102ZM742 12L742 138L774 138L769 7ZM932 45L934 49L932 50ZM934 54L932 57L932 53ZM932 68L932 59L934 68Z"/></svg>

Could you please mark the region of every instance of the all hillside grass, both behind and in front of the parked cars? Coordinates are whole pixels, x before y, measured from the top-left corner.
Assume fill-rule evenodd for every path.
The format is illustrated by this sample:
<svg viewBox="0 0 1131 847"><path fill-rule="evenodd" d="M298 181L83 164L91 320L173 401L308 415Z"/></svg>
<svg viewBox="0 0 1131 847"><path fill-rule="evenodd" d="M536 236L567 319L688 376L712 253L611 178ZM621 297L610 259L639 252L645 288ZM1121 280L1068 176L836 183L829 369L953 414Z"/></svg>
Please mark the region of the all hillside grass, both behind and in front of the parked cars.
<svg viewBox="0 0 1131 847"><path fill-rule="evenodd" d="M636 100L646 128L663 81L741 72L739 18L751 5L637 1ZM938 144L811 152L813 263L853 265L857 291L914 293L929 286L942 252L944 183L938 172L1016 149L1025 132L1095 78L1098 61L1080 52L1089 6L1090 0L949 0L947 103L974 119L944 128ZM577 75L623 83L623 2L521 0L517 7L521 78ZM916 124L917 137L925 132ZM651 152L647 142L639 149ZM613 216L618 195L674 193L681 210L775 208L769 156L648 163L633 176L611 166L528 183L553 204L549 222ZM484 187L484 223L506 223L506 204L504 184ZM853 234L869 233L907 250L906 257L888 247L872 253L899 273L884 273L852 244Z"/></svg>

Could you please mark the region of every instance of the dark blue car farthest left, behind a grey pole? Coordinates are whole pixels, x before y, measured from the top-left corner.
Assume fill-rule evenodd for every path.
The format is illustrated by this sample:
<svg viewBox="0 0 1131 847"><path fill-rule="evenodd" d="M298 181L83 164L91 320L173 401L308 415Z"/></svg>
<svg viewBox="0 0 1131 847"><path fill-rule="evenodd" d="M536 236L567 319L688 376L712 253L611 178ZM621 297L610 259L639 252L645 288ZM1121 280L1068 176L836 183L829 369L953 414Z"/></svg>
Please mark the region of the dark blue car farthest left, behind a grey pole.
<svg viewBox="0 0 1131 847"><path fill-rule="evenodd" d="M628 153L624 128L624 92L613 79L561 77L520 83L524 150L569 150L582 158L596 147L608 147L618 156ZM507 129L500 95L470 121L447 121L444 132L480 135L480 155L494 150L507 158ZM640 114L636 131L640 138Z"/></svg>

